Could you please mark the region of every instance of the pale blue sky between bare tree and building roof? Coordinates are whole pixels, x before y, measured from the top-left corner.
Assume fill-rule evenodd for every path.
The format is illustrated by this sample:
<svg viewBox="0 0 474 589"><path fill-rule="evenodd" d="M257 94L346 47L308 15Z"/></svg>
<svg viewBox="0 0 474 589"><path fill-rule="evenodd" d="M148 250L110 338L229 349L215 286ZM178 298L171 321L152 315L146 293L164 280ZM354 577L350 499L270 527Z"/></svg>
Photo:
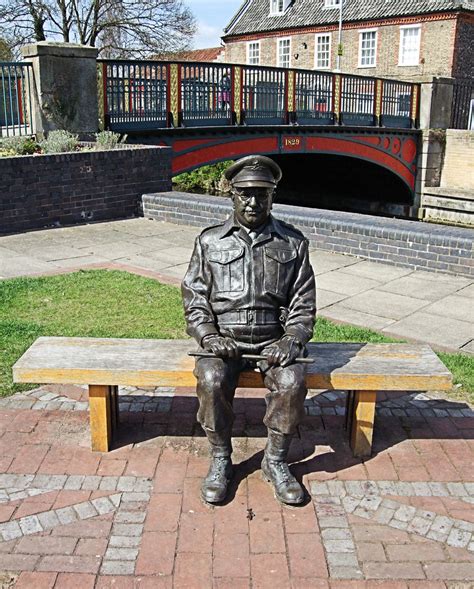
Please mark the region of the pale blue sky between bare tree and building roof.
<svg viewBox="0 0 474 589"><path fill-rule="evenodd" d="M242 0L187 0L197 20L194 49L219 47L223 29L237 12Z"/></svg>

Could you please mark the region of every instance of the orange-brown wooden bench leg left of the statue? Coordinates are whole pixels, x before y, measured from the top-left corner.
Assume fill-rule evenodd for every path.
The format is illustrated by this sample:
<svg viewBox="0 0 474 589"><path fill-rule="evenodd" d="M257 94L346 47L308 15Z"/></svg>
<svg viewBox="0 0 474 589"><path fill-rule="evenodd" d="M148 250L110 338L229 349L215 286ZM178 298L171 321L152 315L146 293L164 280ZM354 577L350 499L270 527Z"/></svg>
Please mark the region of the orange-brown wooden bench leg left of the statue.
<svg viewBox="0 0 474 589"><path fill-rule="evenodd" d="M89 385L89 407L91 446L93 452L108 452L115 429L116 407L114 391L116 387Z"/></svg>

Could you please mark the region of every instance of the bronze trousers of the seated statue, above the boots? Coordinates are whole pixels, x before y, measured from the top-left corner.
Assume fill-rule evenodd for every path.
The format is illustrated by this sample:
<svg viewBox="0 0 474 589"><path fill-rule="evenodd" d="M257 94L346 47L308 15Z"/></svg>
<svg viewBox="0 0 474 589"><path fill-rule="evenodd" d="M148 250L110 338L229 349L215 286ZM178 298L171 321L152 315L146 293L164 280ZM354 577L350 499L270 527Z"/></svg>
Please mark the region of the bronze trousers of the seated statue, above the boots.
<svg viewBox="0 0 474 589"><path fill-rule="evenodd" d="M268 389L263 423L270 429L293 434L304 417L304 400L308 389L305 365L268 366L242 358L199 358L194 374L199 399L198 421L205 430L219 432L234 421L232 408L235 389L242 370L258 367Z"/></svg>

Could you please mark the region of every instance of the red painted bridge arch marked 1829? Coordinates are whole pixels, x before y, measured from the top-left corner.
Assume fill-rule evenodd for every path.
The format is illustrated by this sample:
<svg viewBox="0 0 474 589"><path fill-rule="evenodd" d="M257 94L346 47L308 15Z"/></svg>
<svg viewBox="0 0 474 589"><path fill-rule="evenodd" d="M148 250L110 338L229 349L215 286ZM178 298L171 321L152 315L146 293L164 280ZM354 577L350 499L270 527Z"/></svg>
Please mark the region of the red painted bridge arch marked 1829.
<svg viewBox="0 0 474 589"><path fill-rule="evenodd" d="M329 154L358 158L388 169L411 192L416 179L419 131L383 128L212 128L162 129L133 142L167 145L172 174L245 155Z"/></svg>

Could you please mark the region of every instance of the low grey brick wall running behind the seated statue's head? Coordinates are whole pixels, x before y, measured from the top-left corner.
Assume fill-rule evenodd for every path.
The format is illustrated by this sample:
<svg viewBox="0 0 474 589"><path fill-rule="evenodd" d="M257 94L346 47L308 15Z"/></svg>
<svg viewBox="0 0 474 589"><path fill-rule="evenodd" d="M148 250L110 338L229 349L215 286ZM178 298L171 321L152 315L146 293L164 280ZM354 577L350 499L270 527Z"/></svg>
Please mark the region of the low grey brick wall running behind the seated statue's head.
<svg viewBox="0 0 474 589"><path fill-rule="evenodd" d="M147 218L206 227L231 211L228 198L168 192L143 195ZM474 234L469 229L372 217L357 213L275 205L274 214L298 227L313 247L369 260L474 276Z"/></svg>

